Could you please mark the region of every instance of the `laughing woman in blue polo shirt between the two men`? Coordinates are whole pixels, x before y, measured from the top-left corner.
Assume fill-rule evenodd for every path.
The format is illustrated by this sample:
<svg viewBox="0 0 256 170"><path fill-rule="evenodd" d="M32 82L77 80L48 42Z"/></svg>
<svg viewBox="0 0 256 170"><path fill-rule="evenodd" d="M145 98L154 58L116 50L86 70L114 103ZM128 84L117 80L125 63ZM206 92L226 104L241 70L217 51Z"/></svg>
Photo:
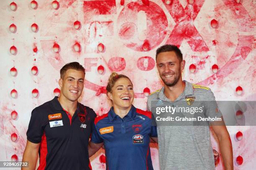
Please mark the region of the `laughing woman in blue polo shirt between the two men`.
<svg viewBox="0 0 256 170"><path fill-rule="evenodd" d="M113 72L106 89L113 107L95 119L89 156L104 143L106 169L153 170L149 143L150 138L157 140L157 130L151 122L152 113L132 105L133 83L127 76Z"/></svg>

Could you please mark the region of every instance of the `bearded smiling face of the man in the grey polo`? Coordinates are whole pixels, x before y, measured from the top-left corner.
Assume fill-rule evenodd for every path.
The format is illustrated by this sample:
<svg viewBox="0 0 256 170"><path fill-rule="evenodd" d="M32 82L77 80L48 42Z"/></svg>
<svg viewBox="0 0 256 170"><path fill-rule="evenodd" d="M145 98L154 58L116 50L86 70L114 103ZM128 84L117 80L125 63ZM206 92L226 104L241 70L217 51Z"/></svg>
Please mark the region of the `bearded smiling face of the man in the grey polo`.
<svg viewBox="0 0 256 170"><path fill-rule="evenodd" d="M178 59L174 51L161 52L157 55L156 66L161 79L167 86L174 86L181 78L185 61Z"/></svg>

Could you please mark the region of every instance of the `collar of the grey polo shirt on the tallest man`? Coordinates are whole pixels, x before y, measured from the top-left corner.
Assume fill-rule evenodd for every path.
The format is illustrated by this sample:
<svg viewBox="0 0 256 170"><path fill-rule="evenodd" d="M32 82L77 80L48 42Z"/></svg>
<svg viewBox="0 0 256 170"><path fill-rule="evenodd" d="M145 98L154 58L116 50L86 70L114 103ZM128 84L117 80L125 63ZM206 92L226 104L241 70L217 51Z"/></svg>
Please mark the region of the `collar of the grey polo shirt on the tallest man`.
<svg viewBox="0 0 256 170"><path fill-rule="evenodd" d="M186 80L184 80L185 82L185 88L184 88L184 91L182 92L182 94L176 99L176 100L179 100L181 99L182 97L184 96L187 96L187 95L193 95L194 94L194 91L193 91L193 86L190 82L187 82ZM169 100L165 95L164 95L164 87L161 88L160 92L158 93L157 95L157 98L159 98L160 100Z"/></svg>

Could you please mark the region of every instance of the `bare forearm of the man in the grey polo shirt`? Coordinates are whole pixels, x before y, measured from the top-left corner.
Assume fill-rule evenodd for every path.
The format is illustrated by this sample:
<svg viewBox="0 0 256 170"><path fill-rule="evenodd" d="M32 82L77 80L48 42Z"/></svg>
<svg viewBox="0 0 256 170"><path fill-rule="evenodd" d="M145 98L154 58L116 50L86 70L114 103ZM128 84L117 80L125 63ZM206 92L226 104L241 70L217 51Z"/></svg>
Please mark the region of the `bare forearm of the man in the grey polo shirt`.
<svg viewBox="0 0 256 170"><path fill-rule="evenodd" d="M233 150L229 135L218 138L220 153L224 162L225 170L233 170Z"/></svg>

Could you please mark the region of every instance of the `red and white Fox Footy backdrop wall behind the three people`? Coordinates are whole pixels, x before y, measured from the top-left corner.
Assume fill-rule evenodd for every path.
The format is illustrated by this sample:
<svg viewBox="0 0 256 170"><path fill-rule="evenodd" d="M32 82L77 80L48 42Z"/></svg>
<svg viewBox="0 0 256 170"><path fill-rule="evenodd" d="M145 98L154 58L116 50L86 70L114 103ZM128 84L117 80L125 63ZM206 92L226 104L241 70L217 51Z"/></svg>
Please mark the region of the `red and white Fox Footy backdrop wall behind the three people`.
<svg viewBox="0 0 256 170"><path fill-rule="evenodd" d="M164 44L182 50L182 78L211 88L216 100L255 100L255 9L255 0L2 0L0 160L22 160L31 111L59 95L68 62L85 67L79 102L97 115L110 108L105 86L113 71L131 78L134 105L146 110L148 94L162 86L155 51ZM234 168L256 169L256 128L227 128ZM216 139L211 133L215 167L223 170ZM151 157L159 170L156 144ZM104 150L90 160L105 170Z"/></svg>

